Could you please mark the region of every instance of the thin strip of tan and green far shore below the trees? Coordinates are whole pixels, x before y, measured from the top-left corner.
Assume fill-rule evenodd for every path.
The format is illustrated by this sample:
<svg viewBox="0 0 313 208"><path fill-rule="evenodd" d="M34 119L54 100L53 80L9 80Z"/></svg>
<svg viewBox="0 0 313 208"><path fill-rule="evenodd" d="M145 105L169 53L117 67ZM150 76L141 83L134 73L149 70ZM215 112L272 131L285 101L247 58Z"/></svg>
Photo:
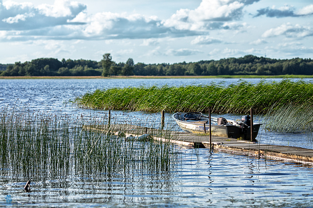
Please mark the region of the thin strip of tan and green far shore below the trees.
<svg viewBox="0 0 313 208"><path fill-rule="evenodd" d="M221 78L313 78L309 75L220 75L220 76L0 76L0 79L221 79Z"/></svg>

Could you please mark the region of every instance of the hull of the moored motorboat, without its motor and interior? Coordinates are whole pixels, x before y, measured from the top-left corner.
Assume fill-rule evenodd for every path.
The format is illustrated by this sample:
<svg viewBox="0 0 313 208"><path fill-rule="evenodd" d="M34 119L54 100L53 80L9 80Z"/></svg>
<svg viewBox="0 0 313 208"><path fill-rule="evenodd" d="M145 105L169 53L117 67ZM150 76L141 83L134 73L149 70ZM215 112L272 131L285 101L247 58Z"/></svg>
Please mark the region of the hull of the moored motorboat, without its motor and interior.
<svg viewBox="0 0 313 208"><path fill-rule="evenodd" d="M204 133L204 126L205 132L209 133L209 124L205 122L205 120L200 121L184 121L183 120L184 113L175 113L173 115L174 120L179 125L179 127L185 131L190 133ZM207 120L208 121L208 120ZM196 123L199 122L199 123ZM204 125L205 123L205 125ZM253 124L253 133L252 133L252 140L255 140L256 136L258 135L260 126L262 124L255 123ZM211 133L212 135L221 136L221 137L228 137L228 138L242 138L246 140L251 139L251 127L248 127L246 130L243 130L240 125L211 125Z"/></svg>

